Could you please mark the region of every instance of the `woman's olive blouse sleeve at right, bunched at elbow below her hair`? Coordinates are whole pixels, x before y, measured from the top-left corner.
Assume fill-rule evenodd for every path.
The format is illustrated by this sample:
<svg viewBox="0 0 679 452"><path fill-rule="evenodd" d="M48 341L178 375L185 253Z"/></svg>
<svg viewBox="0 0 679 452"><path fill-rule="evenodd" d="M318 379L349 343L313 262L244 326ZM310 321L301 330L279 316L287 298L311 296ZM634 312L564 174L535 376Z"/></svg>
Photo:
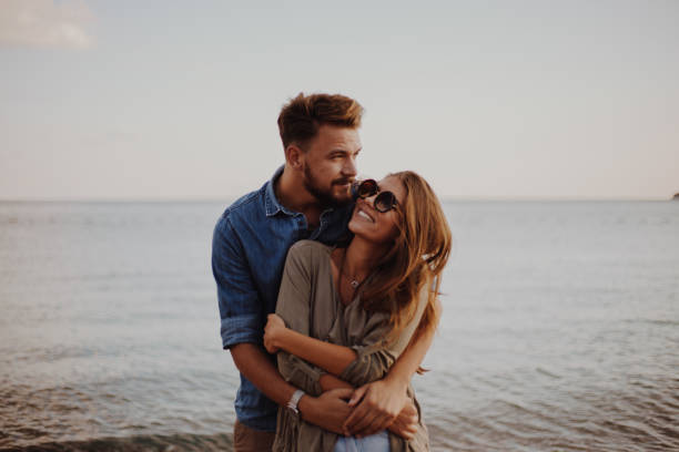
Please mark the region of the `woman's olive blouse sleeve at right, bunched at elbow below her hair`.
<svg viewBox="0 0 679 452"><path fill-rule="evenodd" d="M419 292L415 316L401 335L389 343L385 341L389 333L388 316L372 315L367 321L363 341L352 347L356 351L356 359L344 369L340 378L355 387L384 378L411 341L427 301L428 287L425 285Z"/></svg>

